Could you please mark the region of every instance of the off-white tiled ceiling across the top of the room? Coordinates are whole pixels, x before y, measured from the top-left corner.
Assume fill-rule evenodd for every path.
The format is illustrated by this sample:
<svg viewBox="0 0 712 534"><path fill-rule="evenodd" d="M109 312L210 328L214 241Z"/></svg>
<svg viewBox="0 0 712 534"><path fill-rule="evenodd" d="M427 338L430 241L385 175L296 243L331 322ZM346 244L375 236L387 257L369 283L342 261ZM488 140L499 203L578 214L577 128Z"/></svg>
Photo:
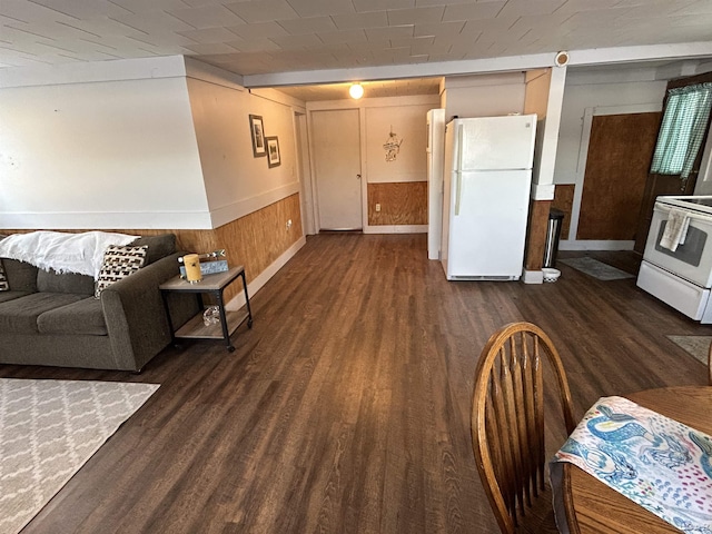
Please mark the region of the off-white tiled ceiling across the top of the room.
<svg viewBox="0 0 712 534"><path fill-rule="evenodd" d="M0 0L0 76L175 55L259 76L710 42L712 0Z"/></svg>

